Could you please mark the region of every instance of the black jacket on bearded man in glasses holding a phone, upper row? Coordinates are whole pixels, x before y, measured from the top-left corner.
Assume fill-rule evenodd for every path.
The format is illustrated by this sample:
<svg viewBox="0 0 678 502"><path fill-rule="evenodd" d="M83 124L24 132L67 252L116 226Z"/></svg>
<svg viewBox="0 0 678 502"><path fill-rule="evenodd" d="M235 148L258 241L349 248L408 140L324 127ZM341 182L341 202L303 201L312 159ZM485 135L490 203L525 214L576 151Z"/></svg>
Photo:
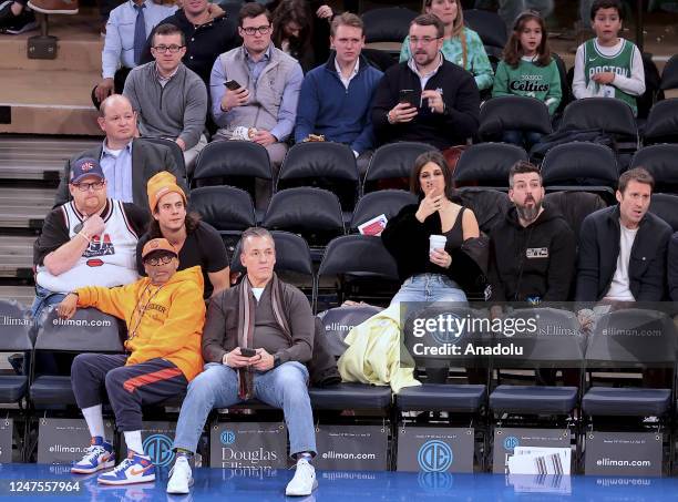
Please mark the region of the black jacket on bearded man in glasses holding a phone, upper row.
<svg viewBox="0 0 678 502"><path fill-rule="evenodd" d="M427 82L427 90L442 90L444 113L433 113L422 103L412 122L389 124L387 113L398 104L401 89L421 92L419 76L408 62L389 68L374 92L372 123L379 144L397 141L419 141L436 148L465 144L477 132L480 93L473 75L443 59L443 63Z"/></svg>

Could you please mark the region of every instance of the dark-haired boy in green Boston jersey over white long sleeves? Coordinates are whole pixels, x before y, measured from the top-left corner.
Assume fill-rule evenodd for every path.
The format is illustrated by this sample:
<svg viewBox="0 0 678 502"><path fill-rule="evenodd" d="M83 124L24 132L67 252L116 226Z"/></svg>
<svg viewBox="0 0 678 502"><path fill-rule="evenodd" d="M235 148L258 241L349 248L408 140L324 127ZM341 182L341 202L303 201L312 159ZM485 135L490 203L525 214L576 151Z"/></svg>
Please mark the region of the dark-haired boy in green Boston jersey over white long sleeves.
<svg viewBox="0 0 678 502"><path fill-rule="evenodd" d="M619 38L624 10L619 0L596 0L590 20L596 38L577 49L572 92L582 98L616 98L638 113L636 96L645 92L640 51Z"/></svg>

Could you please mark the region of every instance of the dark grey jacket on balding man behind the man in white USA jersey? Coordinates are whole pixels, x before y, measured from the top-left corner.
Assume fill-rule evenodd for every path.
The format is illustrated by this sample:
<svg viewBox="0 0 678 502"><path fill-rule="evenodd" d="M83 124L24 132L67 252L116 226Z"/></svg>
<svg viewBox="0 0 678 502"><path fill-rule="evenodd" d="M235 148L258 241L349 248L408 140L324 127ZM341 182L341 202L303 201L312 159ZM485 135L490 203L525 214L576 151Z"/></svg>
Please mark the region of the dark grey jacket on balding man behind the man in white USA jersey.
<svg viewBox="0 0 678 502"><path fill-rule="evenodd" d="M56 189L56 198L54 199L54 206L58 207L65 204L71 199L69 193L69 180L71 177L71 162L75 162L78 158L101 158L103 146L96 146L95 148L85 150L69 161L66 161L63 167L63 175L61 176L61 183ZM134 140L132 143L132 198L133 203L138 207L151 212L148 208L148 195L146 193L146 183L156 173L161 171L168 171L176 176L178 185L186 189L184 184L184 173L179 173L176 167L176 162L172 155L170 147L161 144L150 143L142 139Z"/></svg>

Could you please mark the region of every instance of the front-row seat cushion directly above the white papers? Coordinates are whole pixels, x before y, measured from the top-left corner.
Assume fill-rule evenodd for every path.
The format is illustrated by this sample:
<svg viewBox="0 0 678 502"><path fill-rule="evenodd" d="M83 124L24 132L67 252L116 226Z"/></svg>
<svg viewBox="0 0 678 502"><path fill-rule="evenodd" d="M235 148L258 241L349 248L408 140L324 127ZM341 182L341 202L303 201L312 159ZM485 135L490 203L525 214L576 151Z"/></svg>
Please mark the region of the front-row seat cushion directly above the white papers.
<svg viewBox="0 0 678 502"><path fill-rule="evenodd" d="M499 386L490 396L490 408L505 413L569 414L576 404L576 387Z"/></svg>

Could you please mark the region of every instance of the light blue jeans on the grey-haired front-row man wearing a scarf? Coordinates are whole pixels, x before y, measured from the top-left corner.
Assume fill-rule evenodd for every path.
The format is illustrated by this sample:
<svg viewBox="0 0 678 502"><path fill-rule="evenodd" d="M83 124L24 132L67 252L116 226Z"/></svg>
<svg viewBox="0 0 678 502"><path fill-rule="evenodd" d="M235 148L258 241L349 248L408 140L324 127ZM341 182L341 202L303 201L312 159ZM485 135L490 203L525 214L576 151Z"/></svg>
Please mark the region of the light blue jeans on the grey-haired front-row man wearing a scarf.
<svg viewBox="0 0 678 502"><path fill-rule="evenodd" d="M291 455L304 451L316 453L316 429L307 386L308 370L297 361L284 362L254 376L255 397L281 408L285 413ZM209 412L239 402L238 372L220 362L205 365L205 370L188 385L176 424L174 448L195 452Z"/></svg>

